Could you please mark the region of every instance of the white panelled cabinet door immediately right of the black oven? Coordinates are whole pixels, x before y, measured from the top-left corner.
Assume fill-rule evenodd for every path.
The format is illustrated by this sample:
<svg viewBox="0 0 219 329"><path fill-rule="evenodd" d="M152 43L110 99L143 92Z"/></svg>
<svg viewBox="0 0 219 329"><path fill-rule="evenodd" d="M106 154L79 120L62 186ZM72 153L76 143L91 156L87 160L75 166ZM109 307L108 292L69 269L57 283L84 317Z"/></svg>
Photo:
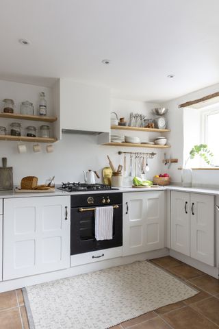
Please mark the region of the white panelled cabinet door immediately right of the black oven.
<svg viewBox="0 0 219 329"><path fill-rule="evenodd" d="M164 247L164 191L123 193L123 256Z"/></svg>

